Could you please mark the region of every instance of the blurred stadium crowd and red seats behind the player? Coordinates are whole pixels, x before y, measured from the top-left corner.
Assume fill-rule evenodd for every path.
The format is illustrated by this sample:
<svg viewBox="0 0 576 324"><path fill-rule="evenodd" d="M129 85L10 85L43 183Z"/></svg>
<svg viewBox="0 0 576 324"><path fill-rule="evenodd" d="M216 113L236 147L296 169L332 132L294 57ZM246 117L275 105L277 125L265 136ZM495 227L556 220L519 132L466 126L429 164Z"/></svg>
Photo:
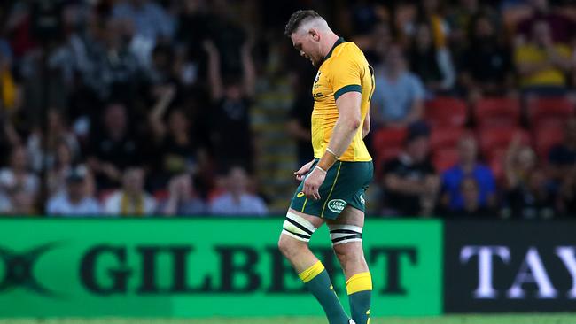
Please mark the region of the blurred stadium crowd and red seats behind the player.
<svg viewBox="0 0 576 324"><path fill-rule="evenodd" d="M288 80L312 158L301 8L375 67L373 217L576 216L576 5L553 0L5 0L0 213L281 212L253 105Z"/></svg>

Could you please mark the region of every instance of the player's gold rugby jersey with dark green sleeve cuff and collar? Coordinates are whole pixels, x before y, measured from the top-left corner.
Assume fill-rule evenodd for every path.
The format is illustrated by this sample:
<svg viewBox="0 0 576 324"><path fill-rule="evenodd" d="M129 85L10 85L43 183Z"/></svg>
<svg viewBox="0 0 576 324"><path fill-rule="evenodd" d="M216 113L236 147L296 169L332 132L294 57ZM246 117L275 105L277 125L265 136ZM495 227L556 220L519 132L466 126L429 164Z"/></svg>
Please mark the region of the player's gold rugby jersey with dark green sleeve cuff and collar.
<svg viewBox="0 0 576 324"><path fill-rule="evenodd" d="M315 158L322 158L338 120L336 99L350 91L362 93L360 109L363 124L374 93L374 70L354 42L339 38L324 58L312 86L312 147ZM347 162L372 160L362 140L362 126L339 159Z"/></svg>

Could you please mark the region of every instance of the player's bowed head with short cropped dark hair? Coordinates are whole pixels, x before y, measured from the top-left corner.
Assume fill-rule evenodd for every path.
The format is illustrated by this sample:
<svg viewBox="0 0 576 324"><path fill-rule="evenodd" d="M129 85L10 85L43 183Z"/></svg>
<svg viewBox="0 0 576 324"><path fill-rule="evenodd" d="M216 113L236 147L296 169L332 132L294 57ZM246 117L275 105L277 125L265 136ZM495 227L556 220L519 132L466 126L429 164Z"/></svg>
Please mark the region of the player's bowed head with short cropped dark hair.
<svg viewBox="0 0 576 324"><path fill-rule="evenodd" d="M290 37L300 56L309 59L313 66L319 66L323 61L323 37L330 32L328 23L318 12L299 10L292 13L284 34Z"/></svg>

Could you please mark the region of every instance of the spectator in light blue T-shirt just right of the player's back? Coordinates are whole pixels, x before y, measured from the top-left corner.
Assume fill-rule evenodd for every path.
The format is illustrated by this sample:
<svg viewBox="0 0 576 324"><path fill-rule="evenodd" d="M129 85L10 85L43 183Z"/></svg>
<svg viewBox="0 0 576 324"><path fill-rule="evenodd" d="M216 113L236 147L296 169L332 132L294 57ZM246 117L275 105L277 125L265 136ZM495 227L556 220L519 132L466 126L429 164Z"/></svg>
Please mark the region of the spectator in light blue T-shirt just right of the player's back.
<svg viewBox="0 0 576 324"><path fill-rule="evenodd" d="M409 73L401 48L393 45L385 65L376 71L376 90L372 95L371 124L379 127L405 127L422 118L424 85Z"/></svg>

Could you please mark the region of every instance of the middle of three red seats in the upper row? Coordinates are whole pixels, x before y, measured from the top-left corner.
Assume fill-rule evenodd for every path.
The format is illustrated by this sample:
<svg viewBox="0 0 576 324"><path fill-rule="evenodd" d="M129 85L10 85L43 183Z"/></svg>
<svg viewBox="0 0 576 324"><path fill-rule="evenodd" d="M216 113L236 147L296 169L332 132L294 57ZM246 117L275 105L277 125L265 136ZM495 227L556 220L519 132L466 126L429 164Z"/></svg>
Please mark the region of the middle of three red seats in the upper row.
<svg viewBox="0 0 576 324"><path fill-rule="evenodd" d="M474 106L477 127L518 127L520 125L520 103L507 97L480 99Z"/></svg>

